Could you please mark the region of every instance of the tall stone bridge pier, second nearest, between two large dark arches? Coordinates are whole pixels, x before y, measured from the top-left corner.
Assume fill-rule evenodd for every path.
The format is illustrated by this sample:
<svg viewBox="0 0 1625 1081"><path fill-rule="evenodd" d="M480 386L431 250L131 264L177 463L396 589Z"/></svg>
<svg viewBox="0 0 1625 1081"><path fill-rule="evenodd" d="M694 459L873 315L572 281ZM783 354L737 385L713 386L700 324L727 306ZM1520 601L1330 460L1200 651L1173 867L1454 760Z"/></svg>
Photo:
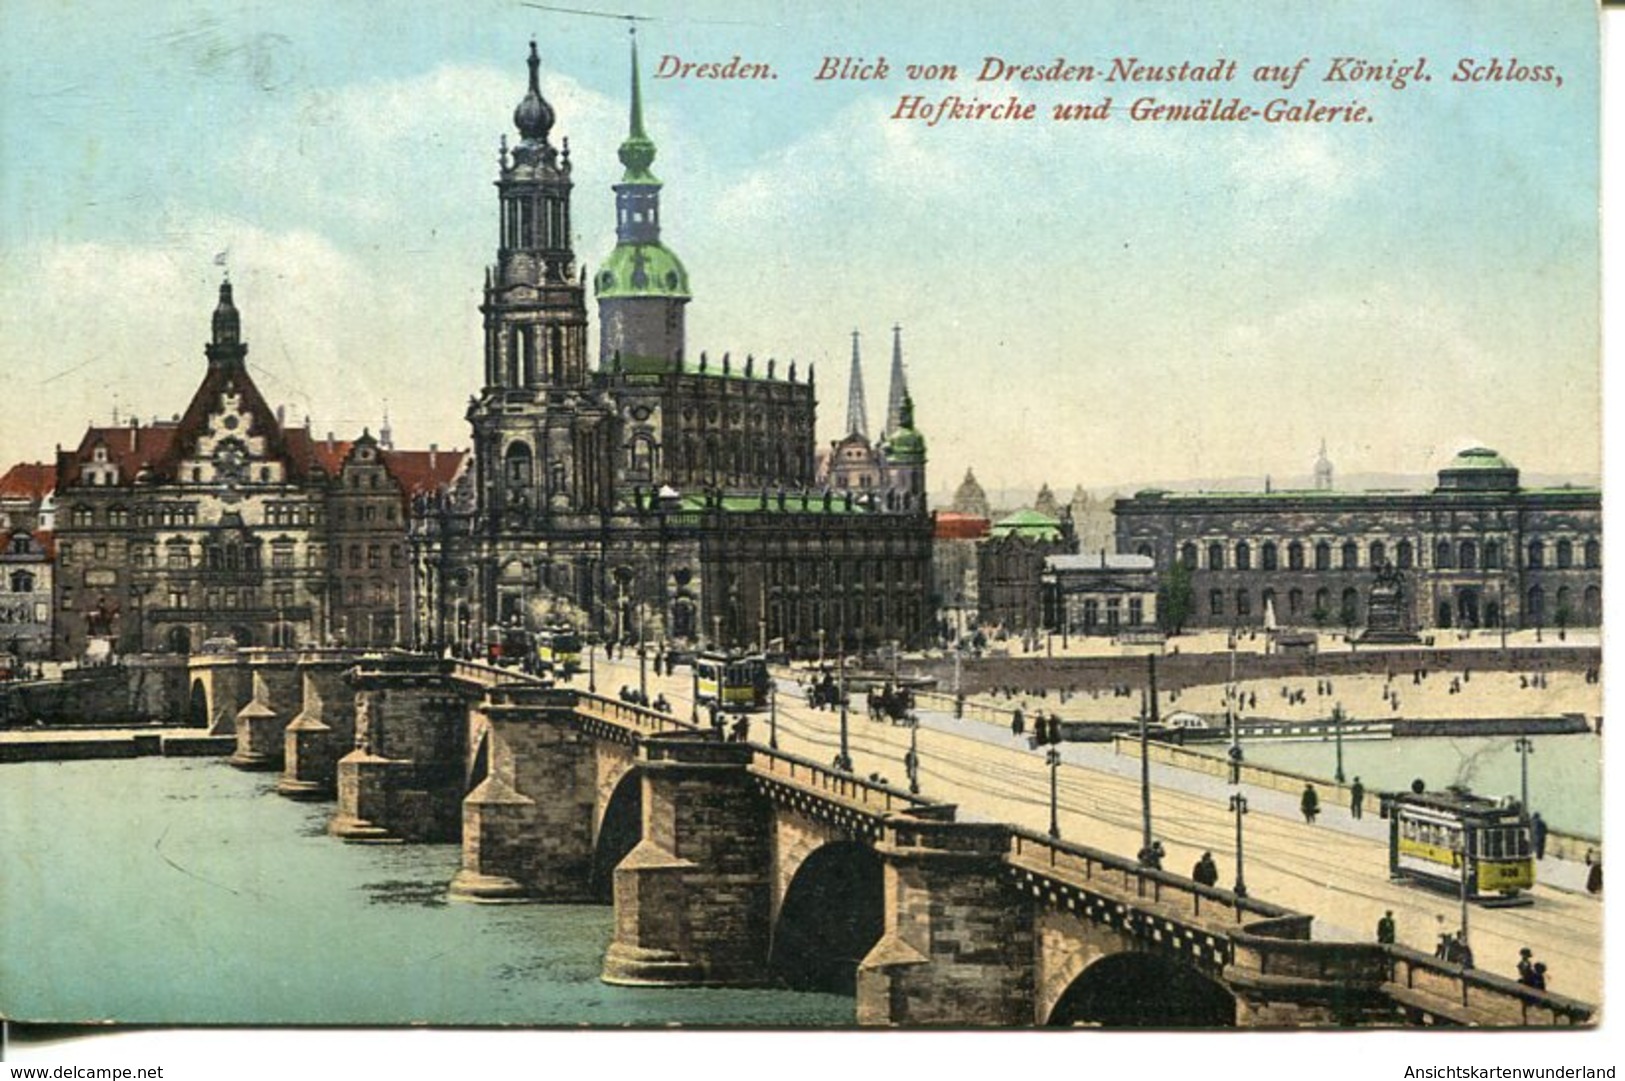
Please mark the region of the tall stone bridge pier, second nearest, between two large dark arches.
<svg viewBox="0 0 1625 1081"><path fill-rule="evenodd" d="M767 977L772 816L751 746L656 735L639 748L644 837L614 870L603 980L751 985Z"/></svg>

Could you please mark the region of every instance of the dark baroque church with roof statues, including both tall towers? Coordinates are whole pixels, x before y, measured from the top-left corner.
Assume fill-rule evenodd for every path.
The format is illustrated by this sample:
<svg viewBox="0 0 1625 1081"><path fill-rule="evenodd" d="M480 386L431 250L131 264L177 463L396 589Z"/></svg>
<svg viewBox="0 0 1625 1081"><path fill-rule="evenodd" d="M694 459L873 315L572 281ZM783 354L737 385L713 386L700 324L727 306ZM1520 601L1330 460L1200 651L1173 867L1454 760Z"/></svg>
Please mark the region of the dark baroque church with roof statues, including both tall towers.
<svg viewBox="0 0 1625 1081"><path fill-rule="evenodd" d="M884 476L821 484L812 367L687 348L689 275L663 241L635 42L618 242L592 275L572 249L570 150L552 143L535 42L528 63L518 141L499 151L473 486L413 519L416 640L476 650L502 627L567 623L679 649L918 644L931 517L912 403Z"/></svg>

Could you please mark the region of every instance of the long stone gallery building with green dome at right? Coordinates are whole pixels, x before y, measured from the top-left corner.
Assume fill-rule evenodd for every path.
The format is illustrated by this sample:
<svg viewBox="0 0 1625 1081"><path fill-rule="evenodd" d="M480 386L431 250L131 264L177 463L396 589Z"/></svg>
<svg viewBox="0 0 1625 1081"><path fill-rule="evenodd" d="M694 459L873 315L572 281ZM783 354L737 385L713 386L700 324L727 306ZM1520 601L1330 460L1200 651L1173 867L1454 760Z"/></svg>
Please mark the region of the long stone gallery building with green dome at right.
<svg viewBox="0 0 1625 1081"><path fill-rule="evenodd" d="M1602 621L1602 496L1523 488L1493 450L1462 450L1432 491L1142 491L1116 502L1116 548L1191 571L1188 626L1365 626L1384 566L1412 627Z"/></svg>

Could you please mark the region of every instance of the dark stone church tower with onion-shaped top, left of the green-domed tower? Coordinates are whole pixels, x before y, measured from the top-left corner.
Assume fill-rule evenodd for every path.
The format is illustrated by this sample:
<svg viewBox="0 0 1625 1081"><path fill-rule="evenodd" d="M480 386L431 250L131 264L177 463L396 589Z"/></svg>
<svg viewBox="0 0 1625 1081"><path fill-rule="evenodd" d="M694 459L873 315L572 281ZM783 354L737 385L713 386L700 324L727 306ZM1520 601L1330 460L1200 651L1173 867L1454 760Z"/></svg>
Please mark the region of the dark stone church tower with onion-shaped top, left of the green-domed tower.
<svg viewBox="0 0 1625 1081"><path fill-rule="evenodd" d="M570 145L548 140L552 106L541 96L536 42L530 88L514 109L520 141L497 154L500 231L486 271L486 392L557 390L587 382L587 302L570 250Z"/></svg>

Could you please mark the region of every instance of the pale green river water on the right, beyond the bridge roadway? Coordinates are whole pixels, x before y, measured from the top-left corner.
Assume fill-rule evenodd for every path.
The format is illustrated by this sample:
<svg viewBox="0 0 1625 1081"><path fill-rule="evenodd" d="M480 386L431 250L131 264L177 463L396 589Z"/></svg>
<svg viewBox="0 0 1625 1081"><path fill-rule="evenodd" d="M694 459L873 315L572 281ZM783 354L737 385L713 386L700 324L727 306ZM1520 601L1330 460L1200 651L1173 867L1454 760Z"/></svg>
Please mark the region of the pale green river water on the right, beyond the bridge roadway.
<svg viewBox="0 0 1625 1081"><path fill-rule="evenodd" d="M1402 790L1420 777L1428 788L1462 784L1482 797L1516 797L1519 792L1516 736L1419 736L1406 740L1344 740L1342 771L1365 787ZM1602 740L1591 733L1529 736L1529 806L1552 829L1602 836ZM1224 754L1224 745L1191 745L1191 749ZM1285 743L1250 740L1246 761L1294 774L1332 777L1337 751L1331 740Z"/></svg>

